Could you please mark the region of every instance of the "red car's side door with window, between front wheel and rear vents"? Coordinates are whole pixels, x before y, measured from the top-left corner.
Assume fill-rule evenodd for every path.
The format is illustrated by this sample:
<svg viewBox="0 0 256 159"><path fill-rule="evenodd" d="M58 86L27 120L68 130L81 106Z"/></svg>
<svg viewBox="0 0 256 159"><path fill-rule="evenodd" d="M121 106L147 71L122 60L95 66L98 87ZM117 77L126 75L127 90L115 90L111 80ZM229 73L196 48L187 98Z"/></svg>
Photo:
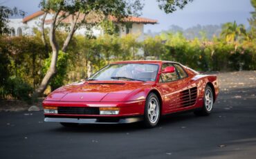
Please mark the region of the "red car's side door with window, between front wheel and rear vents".
<svg viewBox="0 0 256 159"><path fill-rule="evenodd" d="M167 66L174 65L171 63L165 63L161 70L165 69ZM165 102L165 108L163 111L165 111L165 113L180 107L180 91L183 88L183 84L177 71L174 73L161 73L161 75L159 75L157 87L161 89L164 95L163 102Z"/></svg>

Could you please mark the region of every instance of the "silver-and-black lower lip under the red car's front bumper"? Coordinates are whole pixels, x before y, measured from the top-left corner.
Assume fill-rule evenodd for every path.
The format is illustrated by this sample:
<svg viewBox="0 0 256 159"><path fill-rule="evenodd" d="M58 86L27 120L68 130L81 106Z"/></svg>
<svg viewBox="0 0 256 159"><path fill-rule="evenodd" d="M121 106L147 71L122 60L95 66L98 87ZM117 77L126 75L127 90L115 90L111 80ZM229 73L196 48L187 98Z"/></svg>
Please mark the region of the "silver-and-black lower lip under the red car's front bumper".
<svg viewBox="0 0 256 159"><path fill-rule="evenodd" d="M142 120L143 116L128 118L44 118L44 122L70 122L80 124L127 124Z"/></svg>

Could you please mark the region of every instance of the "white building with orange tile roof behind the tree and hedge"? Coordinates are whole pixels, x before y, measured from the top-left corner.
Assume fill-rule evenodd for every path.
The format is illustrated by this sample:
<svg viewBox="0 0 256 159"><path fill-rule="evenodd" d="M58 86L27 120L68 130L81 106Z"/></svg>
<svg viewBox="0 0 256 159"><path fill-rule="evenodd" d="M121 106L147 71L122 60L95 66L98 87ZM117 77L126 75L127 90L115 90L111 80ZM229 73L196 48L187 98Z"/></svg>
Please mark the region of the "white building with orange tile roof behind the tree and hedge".
<svg viewBox="0 0 256 159"><path fill-rule="evenodd" d="M60 12L60 15L63 15L64 12ZM42 23L42 17L44 15L44 11L37 11L33 13L32 15L28 15L24 17L24 19L10 19L10 23L8 26L11 28L11 35L12 36L19 36L19 35L33 35L33 28L39 28L41 23ZM52 19L53 14L48 14L46 16L45 20L45 28L50 27L51 24L51 19ZM78 21L81 21L84 15L80 14L80 17L78 18ZM143 17L126 17L122 19L122 21L118 21L113 16L108 17L109 20L115 22L115 24L118 25L119 27L119 35L124 36L129 33L131 34L136 34L138 35L138 40L141 41L144 39L144 25L145 24L157 24L157 20L154 19L147 19ZM66 17L65 19L62 20L63 23L70 23L71 17ZM97 18L93 17L91 19L87 19L86 21L97 21ZM129 28L127 26L122 25L122 22L130 22ZM100 35L104 35L104 31L100 27L93 27L91 30L92 34L96 37ZM86 33L86 28L82 27L76 30L76 34L79 35L85 35Z"/></svg>

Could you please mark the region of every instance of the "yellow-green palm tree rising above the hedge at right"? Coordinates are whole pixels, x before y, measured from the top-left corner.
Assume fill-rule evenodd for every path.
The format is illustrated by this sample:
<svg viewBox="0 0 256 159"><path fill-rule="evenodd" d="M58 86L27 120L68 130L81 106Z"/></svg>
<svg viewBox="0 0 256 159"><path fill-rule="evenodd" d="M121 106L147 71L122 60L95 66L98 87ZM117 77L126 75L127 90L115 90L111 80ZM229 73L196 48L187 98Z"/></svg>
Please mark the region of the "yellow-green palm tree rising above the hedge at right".
<svg viewBox="0 0 256 159"><path fill-rule="evenodd" d="M225 38L226 41L237 41L239 37L247 37L246 29L243 24L237 25L236 21L234 23L228 22L222 26L221 37Z"/></svg>

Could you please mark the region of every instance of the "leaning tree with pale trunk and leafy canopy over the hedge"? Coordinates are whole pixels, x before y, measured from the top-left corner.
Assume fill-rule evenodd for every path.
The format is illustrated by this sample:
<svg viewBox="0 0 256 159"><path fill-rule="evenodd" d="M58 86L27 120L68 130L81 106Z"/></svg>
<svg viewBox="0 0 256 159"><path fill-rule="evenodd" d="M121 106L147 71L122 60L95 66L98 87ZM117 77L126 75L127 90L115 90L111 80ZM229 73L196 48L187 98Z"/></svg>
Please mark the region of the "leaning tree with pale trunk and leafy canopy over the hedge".
<svg viewBox="0 0 256 159"><path fill-rule="evenodd" d="M192 0L157 0L159 7L166 13L174 12L177 8L183 8L188 1ZM34 95L40 95L46 89L46 86L50 82L51 78L57 73L57 56L60 50L60 46L56 41L56 30L61 26L66 26L68 35L62 44L62 52L66 53L68 44L70 43L75 30L81 26L90 28L91 26L100 24L100 21L107 19L109 15L116 17L118 20L127 17L129 15L139 15L140 10L143 8L143 4L139 0L42 0L40 3L42 10L45 12L42 18L42 39L46 45L46 38L44 34L44 21L46 15L53 14L51 19L51 28L49 31L49 40L52 48L51 65L48 68L44 79L40 86L35 91ZM87 17L95 17L93 21L87 21ZM63 23L64 19L71 19L70 24ZM46 49L47 50L47 49Z"/></svg>

